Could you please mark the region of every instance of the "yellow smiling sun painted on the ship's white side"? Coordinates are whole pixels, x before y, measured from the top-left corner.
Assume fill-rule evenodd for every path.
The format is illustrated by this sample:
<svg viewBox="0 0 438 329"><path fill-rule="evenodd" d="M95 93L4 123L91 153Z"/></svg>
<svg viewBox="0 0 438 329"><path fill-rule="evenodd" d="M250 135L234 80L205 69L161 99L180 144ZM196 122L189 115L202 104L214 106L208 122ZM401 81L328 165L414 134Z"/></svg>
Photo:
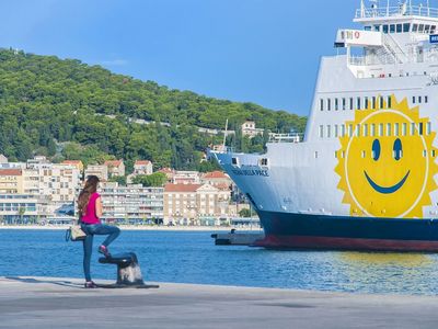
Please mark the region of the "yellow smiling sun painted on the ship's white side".
<svg viewBox="0 0 438 329"><path fill-rule="evenodd" d="M406 99L379 97L370 105L356 110L355 120L341 129L335 171L343 203L350 205L351 216L423 218L437 189L436 133Z"/></svg>

